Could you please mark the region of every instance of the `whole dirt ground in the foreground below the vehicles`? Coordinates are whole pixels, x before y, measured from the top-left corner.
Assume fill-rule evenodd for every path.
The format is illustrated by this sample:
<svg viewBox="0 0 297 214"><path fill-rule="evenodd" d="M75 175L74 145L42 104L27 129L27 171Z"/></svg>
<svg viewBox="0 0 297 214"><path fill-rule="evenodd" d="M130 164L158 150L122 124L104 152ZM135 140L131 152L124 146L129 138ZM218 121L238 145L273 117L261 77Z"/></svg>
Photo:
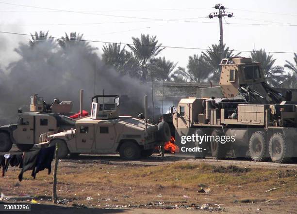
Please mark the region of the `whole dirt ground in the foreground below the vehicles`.
<svg viewBox="0 0 297 214"><path fill-rule="evenodd" d="M0 177L0 192L34 197L31 213L297 213L295 163L80 155L59 161L56 205L52 174L33 180L28 171L18 182L18 173L10 168Z"/></svg>

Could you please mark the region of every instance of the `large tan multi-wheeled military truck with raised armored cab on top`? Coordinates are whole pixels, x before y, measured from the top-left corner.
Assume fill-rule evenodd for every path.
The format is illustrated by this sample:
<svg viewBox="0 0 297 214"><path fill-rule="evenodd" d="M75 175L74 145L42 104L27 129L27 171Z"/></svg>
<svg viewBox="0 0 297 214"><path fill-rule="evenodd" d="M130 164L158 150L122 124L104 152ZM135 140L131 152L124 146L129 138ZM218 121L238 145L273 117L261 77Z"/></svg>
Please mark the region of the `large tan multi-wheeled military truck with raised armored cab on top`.
<svg viewBox="0 0 297 214"><path fill-rule="evenodd" d="M221 65L219 87L198 89L197 97L181 99L174 108L173 123L179 135L213 137L209 143L199 142L203 150L195 155L205 157L210 150L214 158L224 158L233 150L236 157L271 158L276 163L297 157L294 93L287 90L283 95L267 86L260 63L250 58L223 59ZM217 136L234 141L215 141Z"/></svg>

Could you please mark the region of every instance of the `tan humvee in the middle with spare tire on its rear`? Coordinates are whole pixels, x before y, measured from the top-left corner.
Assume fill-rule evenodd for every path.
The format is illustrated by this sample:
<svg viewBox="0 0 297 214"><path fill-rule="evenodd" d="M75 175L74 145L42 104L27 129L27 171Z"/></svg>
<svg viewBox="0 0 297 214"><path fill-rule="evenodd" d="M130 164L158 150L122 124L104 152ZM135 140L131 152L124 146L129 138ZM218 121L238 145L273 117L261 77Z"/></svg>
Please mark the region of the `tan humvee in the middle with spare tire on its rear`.
<svg viewBox="0 0 297 214"><path fill-rule="evenodd" d="M68 153L119 153L125 159L138 159L150 156L156 145L170 139L166 122L147 122L146 111L145 120L118 116L118 106L117 95L94 96L91 116L76 120L74 129L50 135L39 145L57 143L59 158Z"/></svg>

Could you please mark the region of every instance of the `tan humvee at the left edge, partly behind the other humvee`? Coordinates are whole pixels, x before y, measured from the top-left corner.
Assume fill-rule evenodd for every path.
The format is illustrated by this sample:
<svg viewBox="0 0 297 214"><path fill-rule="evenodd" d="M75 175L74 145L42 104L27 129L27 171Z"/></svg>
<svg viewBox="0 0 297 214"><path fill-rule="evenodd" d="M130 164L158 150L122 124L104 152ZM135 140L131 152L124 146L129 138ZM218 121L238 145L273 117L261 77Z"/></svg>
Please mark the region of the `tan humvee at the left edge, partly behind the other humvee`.
<svg viewBox="0 0 297 214"><path fill-rule="evenodd" d="M42 133L54 134L74 127L75 120L63 115L69 114L71 107L71 101L60 103L57 99L46 104L35 94L31 97L31 112L19 112L16 124L0 126L0 152L8 152L13 144L21 151L30 150L39 143Z"/></svg>

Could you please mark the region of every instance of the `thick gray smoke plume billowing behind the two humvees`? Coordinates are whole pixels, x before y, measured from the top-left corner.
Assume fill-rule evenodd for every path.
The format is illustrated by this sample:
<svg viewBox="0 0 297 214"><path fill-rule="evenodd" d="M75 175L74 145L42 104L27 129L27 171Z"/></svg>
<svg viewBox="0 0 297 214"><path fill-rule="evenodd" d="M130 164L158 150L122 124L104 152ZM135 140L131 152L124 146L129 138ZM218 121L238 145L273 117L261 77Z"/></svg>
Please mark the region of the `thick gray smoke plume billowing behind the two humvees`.
<svg viewBox="0 0 297 214"><path fill-rule="evenodd" d="M54 98L71 100L72 110L77 112L79 90L83 89L84 109L89 111L95 82L96 94L104 90L104 94L128 95L121 100L126 104L121 107L122 114L135 116L143 112L144 95L151 97L147 85L130 76L120 76L100 60L96 48L85 42L69 42L63 47L50 39L33 45L21 42L14 52L18 60L5 67L0 62L0 124L15 122L19 107L23 112L28 111L34 93L44 97L47 103Z"/></svg>

